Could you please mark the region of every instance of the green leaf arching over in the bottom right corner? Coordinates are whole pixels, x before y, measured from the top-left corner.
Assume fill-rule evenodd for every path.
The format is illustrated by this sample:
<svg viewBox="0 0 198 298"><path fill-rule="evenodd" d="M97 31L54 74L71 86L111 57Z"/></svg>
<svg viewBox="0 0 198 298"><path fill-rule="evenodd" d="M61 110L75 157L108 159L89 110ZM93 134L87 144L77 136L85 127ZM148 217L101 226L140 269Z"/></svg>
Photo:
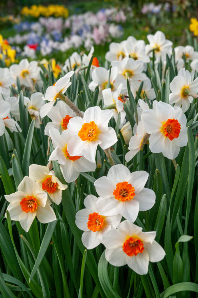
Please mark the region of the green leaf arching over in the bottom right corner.
<svg viewBox="0 0 198 298"><path fill-rule="evenodd" d="M196 283L177 283L171 285L165 291L160 294L161 298L167 298L168 296L181 292L181 291L193 291L198 293L198 285Z"/></svg>

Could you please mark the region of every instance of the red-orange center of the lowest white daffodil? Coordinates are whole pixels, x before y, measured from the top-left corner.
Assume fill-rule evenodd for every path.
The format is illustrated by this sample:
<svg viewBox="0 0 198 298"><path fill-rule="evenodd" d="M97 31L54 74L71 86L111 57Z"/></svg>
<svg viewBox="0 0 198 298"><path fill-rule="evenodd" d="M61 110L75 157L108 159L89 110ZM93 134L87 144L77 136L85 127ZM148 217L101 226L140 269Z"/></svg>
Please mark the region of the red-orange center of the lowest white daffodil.
<svg viewBox="0 0 198 298"><path fill-rule="evenodd" d="M123 243L122 249L129 257L132 257L134 255L137 256L137 254L143 253L144 244L137 237L129 237Z"/></svg>

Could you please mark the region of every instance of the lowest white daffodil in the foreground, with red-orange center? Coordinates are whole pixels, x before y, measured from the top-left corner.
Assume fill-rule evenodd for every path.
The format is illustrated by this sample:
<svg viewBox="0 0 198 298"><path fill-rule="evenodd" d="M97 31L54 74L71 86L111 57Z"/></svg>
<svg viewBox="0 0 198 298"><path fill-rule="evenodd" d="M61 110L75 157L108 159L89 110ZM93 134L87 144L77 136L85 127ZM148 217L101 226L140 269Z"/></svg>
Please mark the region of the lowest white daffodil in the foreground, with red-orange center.
<svg viewBox="0 0 198 298"><path fill-rule="evenodd" d="M156 232L142 232L139 226L122 221L117 229L107 231L102 238L106 260L113 266L127 264L137 274L147 274L149 261L159 262L165 256L155 236Z"/></svg>

